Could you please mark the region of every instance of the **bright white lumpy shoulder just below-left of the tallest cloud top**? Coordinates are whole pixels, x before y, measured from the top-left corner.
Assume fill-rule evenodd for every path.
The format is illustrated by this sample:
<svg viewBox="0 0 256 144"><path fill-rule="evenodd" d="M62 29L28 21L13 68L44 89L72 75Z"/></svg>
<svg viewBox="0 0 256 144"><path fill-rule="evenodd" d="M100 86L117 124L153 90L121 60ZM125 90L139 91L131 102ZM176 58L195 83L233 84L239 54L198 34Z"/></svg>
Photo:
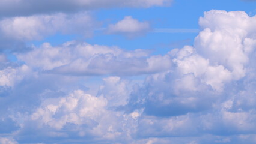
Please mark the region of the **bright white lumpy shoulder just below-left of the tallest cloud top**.
<svg viewBox="0 0 256 144"><path fill-rule="evenodd" d="M171 53L174 54L176 50ZM175 53L177 58L173 61L177 65L177 70L181 74L194 74L200 77L201 82L211 85L213 89L221 91L225 82L232 79L232 74L223 65L210 65L209 60L195 53L195 49L185 46ZM191 81L191 80L186 80ZM191 83L192 84L192 83ZM193 85L188 88L196 89Z"/></svg>

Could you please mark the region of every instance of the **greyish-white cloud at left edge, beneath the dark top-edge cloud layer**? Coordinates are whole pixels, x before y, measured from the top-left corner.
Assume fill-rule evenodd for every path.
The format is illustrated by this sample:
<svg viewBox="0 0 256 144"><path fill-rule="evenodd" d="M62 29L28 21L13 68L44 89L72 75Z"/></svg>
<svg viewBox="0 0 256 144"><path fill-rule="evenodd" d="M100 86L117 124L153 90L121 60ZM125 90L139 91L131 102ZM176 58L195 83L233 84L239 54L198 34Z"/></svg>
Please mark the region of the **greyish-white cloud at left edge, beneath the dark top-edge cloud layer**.
<svg viewBox="0 0 256 144"><path fill-rule="evenodd" d="M100 26L89 13L41 14L17 16L0 20L0 52L28 52L28 41L43 40L55 34L75 34L92 37Z"/></svg>

